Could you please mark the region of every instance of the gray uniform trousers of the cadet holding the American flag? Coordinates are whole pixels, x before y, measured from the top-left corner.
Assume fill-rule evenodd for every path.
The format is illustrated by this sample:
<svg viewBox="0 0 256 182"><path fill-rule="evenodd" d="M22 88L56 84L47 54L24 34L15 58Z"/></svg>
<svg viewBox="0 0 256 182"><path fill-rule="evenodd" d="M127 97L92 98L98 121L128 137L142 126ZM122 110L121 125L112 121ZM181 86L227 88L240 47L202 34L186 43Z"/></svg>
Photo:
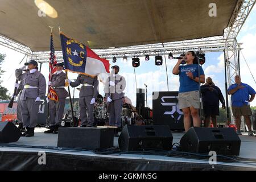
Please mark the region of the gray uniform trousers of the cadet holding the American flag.
<svg viewBox="0 0 256 182"><path fill-rule="evenodd" d="M60 125L63 118L65 98L59 98L59 101L49 100L49 122L50 126Z"/></svg>

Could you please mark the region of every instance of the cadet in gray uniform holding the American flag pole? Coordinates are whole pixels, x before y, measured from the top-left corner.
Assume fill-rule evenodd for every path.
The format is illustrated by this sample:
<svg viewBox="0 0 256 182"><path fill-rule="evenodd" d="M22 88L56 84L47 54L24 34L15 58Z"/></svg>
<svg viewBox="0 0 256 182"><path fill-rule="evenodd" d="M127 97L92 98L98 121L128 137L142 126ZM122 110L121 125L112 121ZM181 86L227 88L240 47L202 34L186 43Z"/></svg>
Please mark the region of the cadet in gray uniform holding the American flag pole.
<svg viewBox="0 0 256 182"><path fill-rule="evenodd" d="M65 90L66 74L63 72L63 63L57 63L54 65L57 68L57 72L52 75L52 80L48 82L49 86L53 86L59 101L49 100L49 122L50 129L44 131L44 133L57 134L61 119L63 118L65 98L68 97L68 92Z"/></svg>

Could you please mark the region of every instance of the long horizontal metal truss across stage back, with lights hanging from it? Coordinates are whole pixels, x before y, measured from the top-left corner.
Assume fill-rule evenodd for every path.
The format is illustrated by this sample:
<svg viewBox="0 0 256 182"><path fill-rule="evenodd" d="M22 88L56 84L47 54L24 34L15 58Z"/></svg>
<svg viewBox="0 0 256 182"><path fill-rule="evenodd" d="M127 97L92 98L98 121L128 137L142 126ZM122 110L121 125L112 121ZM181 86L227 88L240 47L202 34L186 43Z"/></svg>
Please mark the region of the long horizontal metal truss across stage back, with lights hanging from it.
<svg viewBox="0 0 256 182"><path fill-rule="evenodd" d="M122 58L124 55L126 57L143 57L147 54L149 56L168 55L170 52L172 52L174 55L187 51L222 52L224 51L225 47L225 40L223 37L214 36L210 38L185 40L171 43L149 44L122 48L93 49L93 51L100 57L112 59L113 56L117 58ZM232 49L232 44L230 44L229 50L231 51ZM57 61L63 60L61 51L55 51L55 54ZM48 62L48 51L33 52L33 55L36 57L36 60L40 61L41 63Z"/></svg>

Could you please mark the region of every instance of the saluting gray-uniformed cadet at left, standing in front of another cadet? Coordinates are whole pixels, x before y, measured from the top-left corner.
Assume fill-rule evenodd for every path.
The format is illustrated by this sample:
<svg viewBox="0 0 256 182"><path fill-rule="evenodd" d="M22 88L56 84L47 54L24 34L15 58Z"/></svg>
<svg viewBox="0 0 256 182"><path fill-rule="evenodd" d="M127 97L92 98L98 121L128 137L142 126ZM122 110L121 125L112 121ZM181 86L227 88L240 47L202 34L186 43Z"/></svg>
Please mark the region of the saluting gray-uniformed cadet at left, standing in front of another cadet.
<svg viewBox="0 0 256 182"><path fill-rule="evenodd" d="M34 129L38 119L40 98L46 96L46 78L38 71L38 63L31 60L25 63L28 66L29 72L22 74L22 69L16 69L16 78L23 80L24 88L20 96L21 113L23 127L26 127L26 132L22 137L34 137Z"/></svg>

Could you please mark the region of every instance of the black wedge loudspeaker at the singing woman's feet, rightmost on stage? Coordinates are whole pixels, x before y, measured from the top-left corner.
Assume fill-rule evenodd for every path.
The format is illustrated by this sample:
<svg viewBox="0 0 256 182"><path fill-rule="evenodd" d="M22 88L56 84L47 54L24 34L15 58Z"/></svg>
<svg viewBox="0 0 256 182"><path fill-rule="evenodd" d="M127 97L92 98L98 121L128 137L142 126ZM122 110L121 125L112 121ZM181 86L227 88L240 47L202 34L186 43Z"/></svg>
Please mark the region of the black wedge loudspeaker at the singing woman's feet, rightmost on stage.
<svg viewBox="0 0 256 182"><path fill-rule="evenodd" d="M180 139L182 151L239 155L241 140L232 128L191 127Z"/></svg>

